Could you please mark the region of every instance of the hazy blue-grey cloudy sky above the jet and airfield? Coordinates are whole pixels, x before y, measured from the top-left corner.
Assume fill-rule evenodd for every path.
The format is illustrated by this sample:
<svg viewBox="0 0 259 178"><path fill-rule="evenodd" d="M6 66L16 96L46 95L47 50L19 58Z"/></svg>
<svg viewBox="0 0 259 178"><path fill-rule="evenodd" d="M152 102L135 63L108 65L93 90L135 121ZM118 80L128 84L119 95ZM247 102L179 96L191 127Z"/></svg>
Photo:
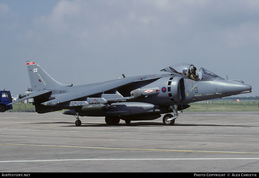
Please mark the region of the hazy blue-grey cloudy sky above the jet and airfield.
<svg viewBox="0 0 259 178"><path fill-rule="evenodd" d="M178 63L240 79L259 95L259 1L0 0L0 90L31 88L26 61L63 84ZM197 71L198 72L198 71Z"/></svg>

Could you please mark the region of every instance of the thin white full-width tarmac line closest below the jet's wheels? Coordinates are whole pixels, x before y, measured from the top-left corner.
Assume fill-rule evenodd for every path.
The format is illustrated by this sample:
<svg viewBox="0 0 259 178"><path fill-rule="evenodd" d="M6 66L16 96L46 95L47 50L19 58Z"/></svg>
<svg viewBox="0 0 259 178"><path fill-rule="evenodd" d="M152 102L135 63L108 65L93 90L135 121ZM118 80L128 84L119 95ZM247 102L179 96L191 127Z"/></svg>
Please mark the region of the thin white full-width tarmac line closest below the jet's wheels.
<svg viewBox="0 0 259 178"><path fill-rule="evenodd" d="M80 133L120 133L120 134L143 134L143 135L192 135L192 136L235 136L235 137L259 137L259 135L216 135L216 134L179 134L179 133L132 133L132 132L88 132L88 131L63 131L63 130L29 130L29 129L0 129L21 131L45 131L45 132L80 132Z"/></svg>

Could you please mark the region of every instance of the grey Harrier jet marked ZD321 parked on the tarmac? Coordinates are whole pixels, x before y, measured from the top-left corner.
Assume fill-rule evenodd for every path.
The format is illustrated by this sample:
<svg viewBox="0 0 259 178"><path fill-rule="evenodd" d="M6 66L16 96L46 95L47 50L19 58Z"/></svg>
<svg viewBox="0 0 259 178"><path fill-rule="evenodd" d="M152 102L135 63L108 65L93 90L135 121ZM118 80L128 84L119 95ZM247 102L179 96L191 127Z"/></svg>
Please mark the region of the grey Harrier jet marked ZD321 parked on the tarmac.
<svg viewBox="0 0 259 178"><path fill-rule="evenodd" d="M242 80L226 80L192 64L181 63L164 68L164 74L143 75L73 86L49 76L40 66L27 61L32 92L20 94L20 100L34 99L37 113L69 109L63 114L103 116L108 125L163 117L164 125L173 125L179 111L188 103L250 93L252 87ZM172 113L172 114L169 114Z"/></svg>

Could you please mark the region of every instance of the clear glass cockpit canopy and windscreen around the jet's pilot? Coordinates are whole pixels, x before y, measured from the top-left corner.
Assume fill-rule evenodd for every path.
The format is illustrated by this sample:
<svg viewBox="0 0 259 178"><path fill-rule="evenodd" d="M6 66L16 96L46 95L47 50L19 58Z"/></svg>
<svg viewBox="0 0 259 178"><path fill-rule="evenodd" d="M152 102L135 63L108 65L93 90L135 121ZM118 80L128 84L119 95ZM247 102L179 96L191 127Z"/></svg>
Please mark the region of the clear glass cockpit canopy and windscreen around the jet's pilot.
<svg viewBox="0 0 259 178"><path fill-rule="evenodd" d="M175 65L172 65L172 66L169 66L165 69L162 69L160 71L166 71L166 72L169 72L169 73L172 73L174 75L177 75L177 76L182 76L182 77L187 77L187 78L190 78L190 75L191 75L191 70L192 69L196 69L194 67L194 65L192 64L188 64L188 63L181 63L181 64L175 64ZM205 79L222 79L221 77L219 77L218 75L204 69L204 68L200 68L199 71L198 71L198 74L195 72L195 75L197 76L197 79L198 80L205 80Z"/></svg>

